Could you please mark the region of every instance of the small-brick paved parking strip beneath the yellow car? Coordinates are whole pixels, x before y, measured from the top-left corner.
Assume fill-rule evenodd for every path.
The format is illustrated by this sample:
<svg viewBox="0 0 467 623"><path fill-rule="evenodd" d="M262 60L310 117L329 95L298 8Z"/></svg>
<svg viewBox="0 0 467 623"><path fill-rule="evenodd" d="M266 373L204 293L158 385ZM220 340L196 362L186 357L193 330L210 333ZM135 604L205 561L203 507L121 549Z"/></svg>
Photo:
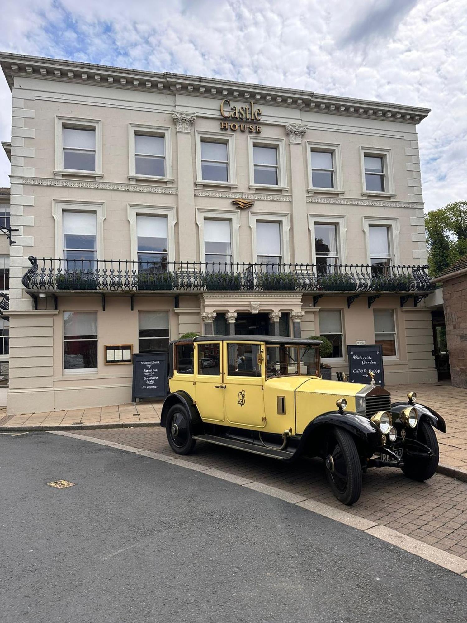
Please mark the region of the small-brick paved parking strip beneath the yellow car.
<svg viewBox="0 0 467 623"><path fill-rule="evenodd" d="M87 430L83 435L176 456L168 445L165 430L159 427ZM197 442L194 454L179 459L344 508L467 559L467 483L455 478L435 474L428 482L419 483L408 480L400 470L374 468L363 477L359 502L347 507L329 490L319 460L283 464L205 442Z"/></svg>

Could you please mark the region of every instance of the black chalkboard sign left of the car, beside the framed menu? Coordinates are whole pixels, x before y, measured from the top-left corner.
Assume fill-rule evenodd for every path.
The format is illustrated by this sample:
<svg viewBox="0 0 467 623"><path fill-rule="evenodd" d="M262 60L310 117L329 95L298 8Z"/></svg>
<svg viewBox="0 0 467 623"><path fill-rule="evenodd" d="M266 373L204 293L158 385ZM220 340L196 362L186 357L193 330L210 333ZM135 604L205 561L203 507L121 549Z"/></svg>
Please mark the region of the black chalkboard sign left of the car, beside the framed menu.
<svg viewBox="0 0 467 623"><path fill-rule="evenodd" d="M131 402L136 398L164 398L167 395L168 353L133 355L133 389Z"/></svg>

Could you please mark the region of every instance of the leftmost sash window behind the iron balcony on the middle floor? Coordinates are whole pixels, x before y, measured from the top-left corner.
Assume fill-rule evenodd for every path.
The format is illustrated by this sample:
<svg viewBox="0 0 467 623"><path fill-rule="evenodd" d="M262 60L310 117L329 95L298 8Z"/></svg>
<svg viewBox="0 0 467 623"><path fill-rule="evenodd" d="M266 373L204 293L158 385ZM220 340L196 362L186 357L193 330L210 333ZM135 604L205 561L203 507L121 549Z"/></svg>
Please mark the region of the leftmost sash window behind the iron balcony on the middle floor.
<svg viewBox="0 0 467 623"><path fill-rule="evenodd" d="M95 270L96 221L96 212L63 212L63 257L67 270Z"/></svg>

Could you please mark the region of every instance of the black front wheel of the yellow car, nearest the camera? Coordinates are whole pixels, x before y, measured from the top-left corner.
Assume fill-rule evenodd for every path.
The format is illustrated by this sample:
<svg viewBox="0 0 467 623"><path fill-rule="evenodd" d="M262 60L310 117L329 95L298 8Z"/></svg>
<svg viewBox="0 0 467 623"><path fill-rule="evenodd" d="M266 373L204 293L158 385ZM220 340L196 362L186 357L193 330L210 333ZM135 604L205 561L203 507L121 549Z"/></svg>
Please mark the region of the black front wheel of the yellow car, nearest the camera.
<svg viewBox="0 0 467 623"><path fill-rule="evenodd" d="M335 427L328 449L324 465L329 485L337 500L354 504L362 492L362 467L352 435Z"/></svg>

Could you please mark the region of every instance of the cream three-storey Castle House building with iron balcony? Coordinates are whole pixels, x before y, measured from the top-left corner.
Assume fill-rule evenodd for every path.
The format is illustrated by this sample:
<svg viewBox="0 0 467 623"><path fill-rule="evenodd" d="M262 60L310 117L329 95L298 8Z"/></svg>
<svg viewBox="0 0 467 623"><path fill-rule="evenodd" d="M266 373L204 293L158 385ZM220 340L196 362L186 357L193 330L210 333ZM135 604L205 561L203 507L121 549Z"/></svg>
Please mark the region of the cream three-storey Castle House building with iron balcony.
<svg viewBox="0 0 467 623"><path fill-rule="evenodd" d="M9 413L130 402L131 354L187 331L326 336L334 376L347 345L377 343L386 383L436 380L416 131L429 110L0 61Z"/></svg>

